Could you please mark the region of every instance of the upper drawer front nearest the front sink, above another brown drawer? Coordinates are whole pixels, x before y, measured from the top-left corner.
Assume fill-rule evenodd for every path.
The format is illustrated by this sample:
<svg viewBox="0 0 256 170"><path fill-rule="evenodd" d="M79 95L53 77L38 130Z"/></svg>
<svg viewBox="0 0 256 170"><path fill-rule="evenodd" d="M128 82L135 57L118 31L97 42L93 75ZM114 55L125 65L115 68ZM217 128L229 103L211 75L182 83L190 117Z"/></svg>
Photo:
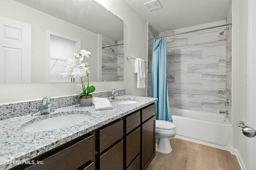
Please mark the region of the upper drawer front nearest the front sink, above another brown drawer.
<svg viewBox="0 0 256 170"><path fill-rule="evenodd" d="M108 148L124 135L124 120L120 120L102 130L99 130L100 152Z"/></svg>

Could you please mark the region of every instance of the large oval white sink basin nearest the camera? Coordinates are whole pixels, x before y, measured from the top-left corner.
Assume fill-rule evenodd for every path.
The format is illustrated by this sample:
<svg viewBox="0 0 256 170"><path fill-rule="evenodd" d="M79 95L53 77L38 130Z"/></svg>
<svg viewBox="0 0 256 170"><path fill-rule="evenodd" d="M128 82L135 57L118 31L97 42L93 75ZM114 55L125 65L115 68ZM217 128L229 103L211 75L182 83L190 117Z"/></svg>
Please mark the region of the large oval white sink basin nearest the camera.
<svg viewBox="0 0 256 170"><path fill-rule="evenodd" d="M21 130L24 132L42 132L48 130L54 130L58 128L69 127L89 119L90 115L87 114L69 114L44 119L27 125Z"/></svg>

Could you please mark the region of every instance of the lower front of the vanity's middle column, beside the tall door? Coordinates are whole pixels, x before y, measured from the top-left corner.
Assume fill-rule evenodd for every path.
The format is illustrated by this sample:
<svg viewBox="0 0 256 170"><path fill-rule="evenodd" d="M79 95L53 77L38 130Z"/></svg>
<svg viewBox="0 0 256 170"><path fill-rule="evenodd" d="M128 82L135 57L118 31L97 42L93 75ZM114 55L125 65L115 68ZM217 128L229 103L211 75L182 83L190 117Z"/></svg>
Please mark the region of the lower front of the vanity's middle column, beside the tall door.
<svg viewBox="0 0 256 170"><path fill-rule="evenodd" d="M140 153L140 127L126 136L126 167Z"/></svg>

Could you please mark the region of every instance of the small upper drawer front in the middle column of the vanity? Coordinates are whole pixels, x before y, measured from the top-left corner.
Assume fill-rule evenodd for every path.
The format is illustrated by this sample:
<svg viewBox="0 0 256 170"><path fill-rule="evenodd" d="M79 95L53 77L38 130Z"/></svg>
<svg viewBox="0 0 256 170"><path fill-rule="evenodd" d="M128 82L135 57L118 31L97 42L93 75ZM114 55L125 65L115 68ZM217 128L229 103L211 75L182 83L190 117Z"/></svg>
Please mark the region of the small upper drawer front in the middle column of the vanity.
<svg viewBox="0 0 256 170"><path fill-rule="evenodd" d="M126 117L126 134L140 125L140 111Z"/></svg>

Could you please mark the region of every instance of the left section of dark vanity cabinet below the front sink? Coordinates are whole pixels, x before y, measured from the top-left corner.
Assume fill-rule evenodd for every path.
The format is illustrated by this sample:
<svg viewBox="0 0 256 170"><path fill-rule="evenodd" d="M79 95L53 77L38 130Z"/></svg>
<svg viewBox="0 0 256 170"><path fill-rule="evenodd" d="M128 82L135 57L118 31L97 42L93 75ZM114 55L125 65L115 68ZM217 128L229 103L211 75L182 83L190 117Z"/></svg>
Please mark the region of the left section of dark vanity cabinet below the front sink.
<svg viewBox="0 0 256 170"><path fill-rule="evenodd" d="M81 138L81 137L80 137ZM78 138L79 139L79 138ZM26 170L94 170L94 131L42 154ZM32 160L31 160L32 161ZM14 167L14 169L23 169Z"/></svg>

